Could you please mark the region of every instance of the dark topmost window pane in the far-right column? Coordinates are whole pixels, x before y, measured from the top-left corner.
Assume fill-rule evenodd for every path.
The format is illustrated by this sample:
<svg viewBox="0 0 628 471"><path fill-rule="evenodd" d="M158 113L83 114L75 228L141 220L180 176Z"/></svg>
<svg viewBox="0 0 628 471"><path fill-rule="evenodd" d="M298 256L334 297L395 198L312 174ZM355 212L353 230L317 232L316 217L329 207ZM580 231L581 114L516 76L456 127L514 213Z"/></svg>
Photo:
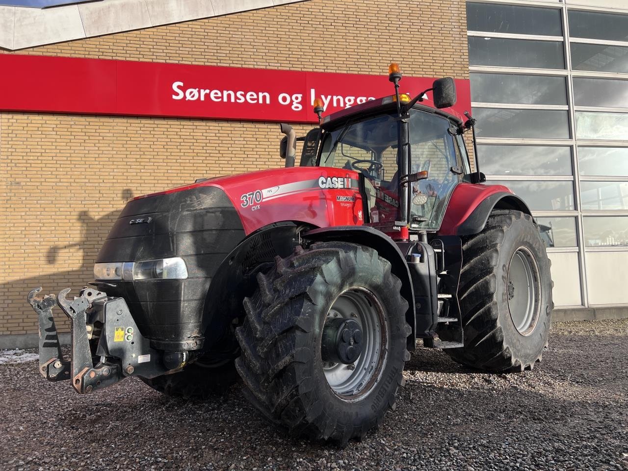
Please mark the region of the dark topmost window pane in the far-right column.
<svg viewBox="0 0 628 471"><path fill-rule="evenodd" d="M567 18L572 38L628 40L628 15L570 10Z"/></svg>

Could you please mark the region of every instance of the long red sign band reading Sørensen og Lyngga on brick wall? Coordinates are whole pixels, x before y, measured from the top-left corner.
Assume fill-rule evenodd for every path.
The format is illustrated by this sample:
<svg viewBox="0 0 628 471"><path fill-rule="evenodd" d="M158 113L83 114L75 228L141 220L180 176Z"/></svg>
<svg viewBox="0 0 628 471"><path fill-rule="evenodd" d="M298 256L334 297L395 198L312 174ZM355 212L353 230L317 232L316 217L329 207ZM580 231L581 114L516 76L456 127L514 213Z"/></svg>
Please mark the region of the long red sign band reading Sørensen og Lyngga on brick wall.
<svg viewBox="0 0 628 471"><path fill-rule="evenodd" d="M386 75L9 54L0 69L0 111L318 122L317 97L329 114L394 93ZM414 96L433 80L404 77L401 92ZM448 111L462 117L469 81L456 85Z"/></svg>

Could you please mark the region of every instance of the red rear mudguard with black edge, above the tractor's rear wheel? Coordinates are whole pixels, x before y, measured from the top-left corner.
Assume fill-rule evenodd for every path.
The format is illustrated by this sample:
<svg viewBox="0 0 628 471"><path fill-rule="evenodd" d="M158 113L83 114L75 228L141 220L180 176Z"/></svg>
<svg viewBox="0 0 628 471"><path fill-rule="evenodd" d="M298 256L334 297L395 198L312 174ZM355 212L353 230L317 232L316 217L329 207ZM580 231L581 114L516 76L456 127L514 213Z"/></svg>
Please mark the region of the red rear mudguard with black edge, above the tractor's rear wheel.
<svg viewBox="0 0 628 471"><path fill-rule="evenodd" d="M439 236L471 236L484 229L494 209L513 209L532 215L528 205L504 185L459 183L453 190Z"/></svg>

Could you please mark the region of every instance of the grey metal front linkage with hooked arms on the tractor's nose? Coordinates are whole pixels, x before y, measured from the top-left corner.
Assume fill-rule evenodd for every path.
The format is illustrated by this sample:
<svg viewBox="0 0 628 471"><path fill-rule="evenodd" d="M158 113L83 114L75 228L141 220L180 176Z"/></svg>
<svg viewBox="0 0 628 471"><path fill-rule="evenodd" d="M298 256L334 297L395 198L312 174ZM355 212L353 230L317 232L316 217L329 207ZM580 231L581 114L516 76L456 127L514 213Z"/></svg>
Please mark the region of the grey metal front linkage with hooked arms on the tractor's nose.
<svg viewBox="0 0 628 471"><path fill-rule="evenodd" d="M70 300L70 288L57 296L28 293L39 318L40 373L48 381L71 380L79 394L111 386L127 376L153 378L181 369L187 352L162 352L151 347L123 298L85 287ZM64 358L52 310L60 306L72 322L70 359Z"/></svg>

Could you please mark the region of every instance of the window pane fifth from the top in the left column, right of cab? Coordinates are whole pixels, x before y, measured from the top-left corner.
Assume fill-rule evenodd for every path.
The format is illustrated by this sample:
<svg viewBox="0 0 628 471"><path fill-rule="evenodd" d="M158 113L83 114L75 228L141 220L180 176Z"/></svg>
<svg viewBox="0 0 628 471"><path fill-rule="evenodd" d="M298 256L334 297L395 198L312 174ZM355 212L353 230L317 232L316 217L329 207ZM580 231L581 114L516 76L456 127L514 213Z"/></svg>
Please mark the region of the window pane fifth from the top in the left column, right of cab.
<svg viewBox="0 0 628 471"><path fill-rule="evenodd" d="M572 175L571 148L558 146L477 146L486 175Z"/></svg>

